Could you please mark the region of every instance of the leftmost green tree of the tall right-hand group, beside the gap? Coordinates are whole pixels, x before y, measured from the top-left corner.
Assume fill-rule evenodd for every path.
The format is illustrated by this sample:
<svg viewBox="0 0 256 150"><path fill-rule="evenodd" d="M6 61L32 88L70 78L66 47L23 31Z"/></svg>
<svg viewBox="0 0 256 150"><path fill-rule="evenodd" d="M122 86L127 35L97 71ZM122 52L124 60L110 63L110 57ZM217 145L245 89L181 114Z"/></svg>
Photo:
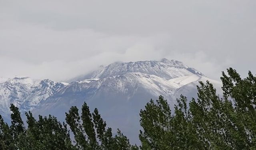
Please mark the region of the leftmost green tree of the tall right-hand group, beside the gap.
<svg viewBox="0 0 256 150"><path fill-rule="evenodd" d="M170 107L162 96L156 100L150 100L145 110L140 110L140 124L144 132L140 131L142 149L168 149L168 137L172 136L170 120L172 119Z"/></svg>

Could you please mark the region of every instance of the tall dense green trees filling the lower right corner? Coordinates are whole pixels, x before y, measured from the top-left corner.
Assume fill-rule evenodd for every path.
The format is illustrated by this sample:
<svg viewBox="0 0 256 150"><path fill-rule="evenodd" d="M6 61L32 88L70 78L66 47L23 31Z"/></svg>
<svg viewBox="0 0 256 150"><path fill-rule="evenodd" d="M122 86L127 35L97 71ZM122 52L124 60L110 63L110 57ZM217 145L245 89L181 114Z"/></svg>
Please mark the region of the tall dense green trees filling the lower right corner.
<svg viewBox="0 0 256 150"><path fill-rule="evenodd" d="M174 113L162 96L140 111L142 150L255 150L256 77L222 72L223 98L210 82L200 82L198 99L181 96Z"/></svg>

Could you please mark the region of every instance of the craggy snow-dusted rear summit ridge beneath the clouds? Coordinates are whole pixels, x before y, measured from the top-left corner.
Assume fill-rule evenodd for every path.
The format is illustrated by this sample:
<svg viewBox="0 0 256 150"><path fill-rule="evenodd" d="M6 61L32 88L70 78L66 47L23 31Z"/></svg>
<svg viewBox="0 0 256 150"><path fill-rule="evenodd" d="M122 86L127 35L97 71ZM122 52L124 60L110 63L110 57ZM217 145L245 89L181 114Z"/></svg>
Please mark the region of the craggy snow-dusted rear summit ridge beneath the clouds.
<svg viewBox="0 0 256 150"><path fill-rule="evenodd" d="M73 78L68 82L118 76L128 72L141 72L144 74L156 75L166 80L192 74L203 76L201 72L186 66L182 62L164 58L161 61L115 62L108 66L101 66L100 69L96 71Z"/></svg>

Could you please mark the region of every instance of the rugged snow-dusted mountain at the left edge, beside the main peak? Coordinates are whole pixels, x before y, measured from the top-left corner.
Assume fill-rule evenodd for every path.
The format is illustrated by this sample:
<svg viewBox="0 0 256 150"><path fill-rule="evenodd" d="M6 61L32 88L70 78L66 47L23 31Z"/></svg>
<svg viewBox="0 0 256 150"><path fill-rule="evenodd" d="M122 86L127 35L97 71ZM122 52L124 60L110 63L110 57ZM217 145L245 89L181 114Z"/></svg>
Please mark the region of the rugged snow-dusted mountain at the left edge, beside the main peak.
<svg viewBox="0 0 256 150"><path fill-rule="evenodd" d="M0 114L10 116L10 104L18 106L22 113L33 110L64 84L51 80L33 80L29 77L9 78L0 83Z"/></svg>

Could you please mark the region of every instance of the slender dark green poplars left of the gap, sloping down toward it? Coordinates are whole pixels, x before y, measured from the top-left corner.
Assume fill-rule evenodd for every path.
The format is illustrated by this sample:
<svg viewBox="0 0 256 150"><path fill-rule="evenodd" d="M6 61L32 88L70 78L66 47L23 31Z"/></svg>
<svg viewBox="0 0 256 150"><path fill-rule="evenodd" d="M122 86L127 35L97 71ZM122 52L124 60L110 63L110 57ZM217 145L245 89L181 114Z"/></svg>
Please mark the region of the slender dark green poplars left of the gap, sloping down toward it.
<svg viewBox="0 0 256 150"><path fill-rule="evenodd" d="M72 106L66 113L66 122L70 126L79 150L138 150L131 146L128 138L120 130L113 137L112 129L106 129L106 122L101 118L98 109L91 114L84 102L81 116L78 108Z"/></svg>

